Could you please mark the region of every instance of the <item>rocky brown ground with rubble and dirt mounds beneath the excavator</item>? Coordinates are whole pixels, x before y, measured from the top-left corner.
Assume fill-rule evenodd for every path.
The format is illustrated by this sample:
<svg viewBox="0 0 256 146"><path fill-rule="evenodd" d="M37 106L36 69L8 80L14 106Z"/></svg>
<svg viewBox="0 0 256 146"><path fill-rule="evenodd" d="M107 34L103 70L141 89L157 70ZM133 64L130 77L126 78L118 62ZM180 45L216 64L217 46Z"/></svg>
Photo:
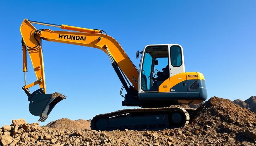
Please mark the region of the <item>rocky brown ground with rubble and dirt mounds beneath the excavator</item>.
<svg viewBox="0 0 256 146"><path fill-rule="evenodd" d="M248 101L253 102L254 98ZM256 113L248 109L250 105L244 107L213 97L197 108L186 127L161 131L95 131L90 130L90 121L82 119L64 118L41 127L39 123L28 124L24 119L12 120L12 125L0 128L0 145L254 146Z"/></svg>

